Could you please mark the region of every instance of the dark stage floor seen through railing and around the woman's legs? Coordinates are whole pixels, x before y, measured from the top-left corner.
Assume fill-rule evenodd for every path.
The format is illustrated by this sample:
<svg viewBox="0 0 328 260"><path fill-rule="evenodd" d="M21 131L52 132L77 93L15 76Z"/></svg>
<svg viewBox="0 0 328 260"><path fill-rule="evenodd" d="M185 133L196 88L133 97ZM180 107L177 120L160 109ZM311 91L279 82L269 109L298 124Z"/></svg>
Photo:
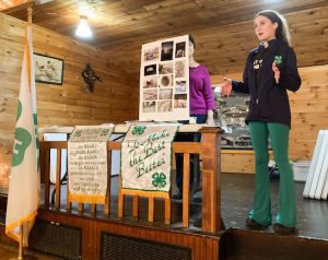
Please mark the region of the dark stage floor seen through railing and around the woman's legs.
<svg viewBox="0 0 328 260"><path fill-rule="evenodd" d="M222 218L225 224L225 228L243 228L247 229L245 225L245 220L247 213L251 206L253 196L254 196L254 175L245 174L222 174L222 193L221 193L221 205L222 205ZM324 200L312 200L303 198L303 189L305 182L295 182L295 197L296 197L296 206L297 206L297 236L302 237L316 237L328 239L328 202ZM175 187L173 188L175 189ZM174 191L174 190L173 190ZM117 177L113 178L112 181L112 192L117 194ZM272 214L277 214L278 211L278 193L279 193L279 180L271 179L271 203L272 203ZM66 198L61 198L62 204L66 202ZM112 201L112 220L117 217L117 198L113 196ZM132 199L128 198L126 201L126 218L127 221L131 220L131 205ZM140 201L140 223L147 225L147 214L148 214L148 201ZM156 201L156 216L153 225L163 227L164 223L164 201ZM87 208L86 215L87 214ZM199 228L194 227L194 222L201 216L201 205L199 203L190 202L190 227L181 228L181 201L174 201L172 208L172 221L173 224L171 228L184 229L186 232L196 232L199 233ZM73 210L74 212L74 210ZM102 208L97 210L97 217L103 216ZM78 212L75 212L78 214ZM91 215L91 214L90 214ZM107 216L106 216L107 217ZM272 217L274 222L274 217ZM266 232L272 233L272 228L269 227Z"/></svg>

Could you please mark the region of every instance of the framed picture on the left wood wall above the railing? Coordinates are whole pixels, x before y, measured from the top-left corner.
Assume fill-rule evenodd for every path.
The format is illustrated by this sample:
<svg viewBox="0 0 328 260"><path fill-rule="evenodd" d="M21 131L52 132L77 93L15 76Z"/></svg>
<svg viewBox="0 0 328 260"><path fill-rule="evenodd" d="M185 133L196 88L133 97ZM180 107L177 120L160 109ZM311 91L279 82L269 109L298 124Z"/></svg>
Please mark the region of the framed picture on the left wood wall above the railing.
<svg viewBox="0 0 328 260"><path fill-rule="evenodd" d="M35 82L62 85L63 60L34 54Z"/></svg>

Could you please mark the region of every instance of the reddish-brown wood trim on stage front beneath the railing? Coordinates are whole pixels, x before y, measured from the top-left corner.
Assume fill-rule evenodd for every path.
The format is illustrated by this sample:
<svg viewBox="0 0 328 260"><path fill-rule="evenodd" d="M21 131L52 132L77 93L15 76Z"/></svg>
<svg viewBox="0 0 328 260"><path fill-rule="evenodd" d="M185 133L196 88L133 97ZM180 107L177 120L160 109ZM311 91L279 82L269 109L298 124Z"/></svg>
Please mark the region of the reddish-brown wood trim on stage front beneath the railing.
<svg viewBox="0 0 328 260"><path fill-rule="evenodd" d="M101 252L101 233L108 232L130 238L141 238L149 241L165 243L191 249L194 260L218 260L220 236L187 233L168 228L139 226L136 222L120 223L94 217L81 217L39 210L38 217L74 227L82 228L82 259L97 259Z"/></svg>

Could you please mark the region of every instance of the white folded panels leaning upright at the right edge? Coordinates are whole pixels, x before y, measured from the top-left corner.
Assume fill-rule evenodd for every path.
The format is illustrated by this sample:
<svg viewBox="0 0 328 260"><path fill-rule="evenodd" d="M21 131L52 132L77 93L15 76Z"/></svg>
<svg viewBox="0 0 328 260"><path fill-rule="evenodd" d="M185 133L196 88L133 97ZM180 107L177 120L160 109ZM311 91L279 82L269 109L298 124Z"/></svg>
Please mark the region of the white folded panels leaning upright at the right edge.
<svg viewBox="0 0 328 260"><path fill-rule="evenodd" d="M304 198L327 200L328 196L328 130L320 130L313 153Z"/></svg>

